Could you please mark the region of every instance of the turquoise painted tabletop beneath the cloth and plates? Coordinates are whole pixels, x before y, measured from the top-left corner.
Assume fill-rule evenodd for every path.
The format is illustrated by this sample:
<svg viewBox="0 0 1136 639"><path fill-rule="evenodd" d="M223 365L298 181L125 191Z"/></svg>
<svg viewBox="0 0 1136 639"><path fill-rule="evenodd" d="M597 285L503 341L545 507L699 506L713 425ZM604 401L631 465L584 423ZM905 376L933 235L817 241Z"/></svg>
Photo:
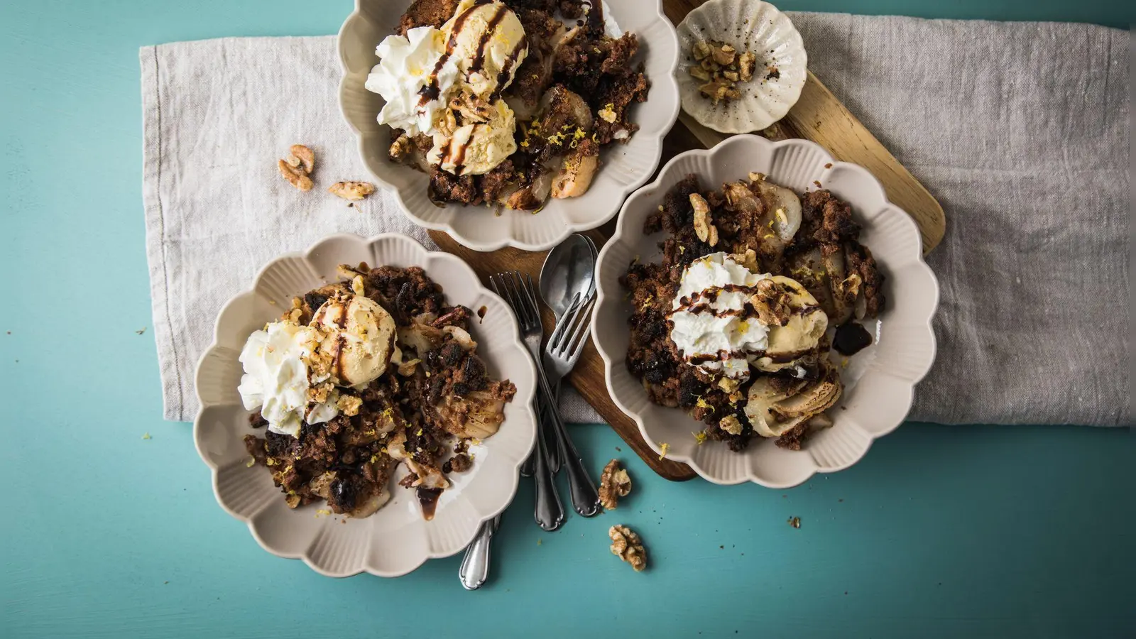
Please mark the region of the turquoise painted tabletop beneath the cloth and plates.
<svg viewBox="0 0 1136 639"><path fill-rule="evenodd" d="M1024 5L783 8L1133 19L1105 0ZM526 483L477 592L457 557L333 580L261 550L215 503L189 424L160 417L137 48L334 33L349 9L0 3L0 637L1136 636L1122 430L907 424L849 471L771 491L668 483L605 428L577 426L596 471L629 460L633 497L550 534ZM649 572L608 553L613 523L642 531Z"/></svg>

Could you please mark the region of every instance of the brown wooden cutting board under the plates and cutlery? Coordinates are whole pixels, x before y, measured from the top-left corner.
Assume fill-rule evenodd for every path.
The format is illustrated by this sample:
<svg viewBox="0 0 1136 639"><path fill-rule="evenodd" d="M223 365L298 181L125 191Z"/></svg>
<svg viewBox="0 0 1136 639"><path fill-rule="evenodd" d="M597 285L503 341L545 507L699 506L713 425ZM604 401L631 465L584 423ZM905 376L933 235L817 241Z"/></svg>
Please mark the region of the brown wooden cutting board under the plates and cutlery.
<svg viewBox="0 0 1136 639"><path fill-rule="evenodd" d="M663 8L667 17L677 25L700 3L699 0L663 0ZM946 231L943 207L812 73L809 73L801 99L788 115L760 133L774 140L786 138L812 140L827 149L834 158L863 166L883 183L888 199L908 211L919 225L924 252L935 248L943 239L943 233ZM678 124L663 141L659 166L677 153L690 149L710 148L724 139L726 135L701 126L683 113ZM602 246L611 236L613 229L615 224L608 223L590 231L588 235L595 240L596 246ZM461 257L473 266L486 284L491 273L512 269L531 273L536 280L541 265L544 264L545 252L527 252L512 248L478 252L462 247L445 233L431 231L429 234L442 250ZM546 308L543 313L545 335L548 335L552 331L553 317L552 312ZM635 422L611 401L603 381L603 360L591 340L568 381L654 472L675 481L695 476L694 471L686 464L660 459L640 437Z"/></svg>

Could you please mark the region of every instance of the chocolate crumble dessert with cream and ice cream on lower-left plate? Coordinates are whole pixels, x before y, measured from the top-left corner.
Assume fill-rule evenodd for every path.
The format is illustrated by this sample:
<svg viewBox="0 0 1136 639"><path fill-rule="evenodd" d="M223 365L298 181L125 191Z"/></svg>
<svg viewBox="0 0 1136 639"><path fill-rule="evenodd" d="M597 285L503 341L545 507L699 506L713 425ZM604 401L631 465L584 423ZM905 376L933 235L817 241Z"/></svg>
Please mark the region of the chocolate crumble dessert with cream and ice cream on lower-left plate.
<svg viewBox="0 0 1136 639"><path fill-rule="evenodd" d="M389 480L414 488L433 517L471 443L496 433L516 388L490 377L469 334L473 313L449 306L418 267L341 266L346 280L309 291L249 335L237 388L253 428L251 465L272 472L292 508L324 500L375 513Z"/></svg>

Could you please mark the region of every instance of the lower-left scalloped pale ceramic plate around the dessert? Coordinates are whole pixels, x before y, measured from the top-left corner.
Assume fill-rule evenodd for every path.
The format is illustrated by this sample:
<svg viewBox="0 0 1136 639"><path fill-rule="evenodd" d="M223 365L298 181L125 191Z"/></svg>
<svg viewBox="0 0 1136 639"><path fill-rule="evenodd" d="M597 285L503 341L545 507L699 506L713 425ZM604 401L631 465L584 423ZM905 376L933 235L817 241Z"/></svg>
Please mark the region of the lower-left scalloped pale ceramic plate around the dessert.
<svg viewBox="0 0 1136 639"><path fill-rule="evenodd" d="M278 320L296 294L336 280L340 264L421 266L442 285L450 304L486 307L485 320L471 326L478 352L490 373L508 377L517 395L506 405L506 420L495 435L482 442L474 467L451 476L453 487L442 493L432 521L425 521L415 493L392 486L391 500L374 515L361 518L317 516L318 505L290 509L279 489L261 467L247 467L243 438L257 432L236 387L242 368L237 357L245 339L265 322ZM225 305L217 317L214 342L198 363L197 392L201 410L193 422L193 439L212 471L217 501L248 523L260 546L274 555L303 559L328 576L369 572L379 576L406 574L423 562L446 557L465 548L482 522L504 511L517 492L521 462L536 439L529 406L536 371L519 339L517 322L506 302L485 289L459 258L431 252L395 233L371 239L331 235L303 254L283 255L257 276L251 290ZM400 472L401 471L400 468ZM392 481L401 475L395 473Z"/></svg>

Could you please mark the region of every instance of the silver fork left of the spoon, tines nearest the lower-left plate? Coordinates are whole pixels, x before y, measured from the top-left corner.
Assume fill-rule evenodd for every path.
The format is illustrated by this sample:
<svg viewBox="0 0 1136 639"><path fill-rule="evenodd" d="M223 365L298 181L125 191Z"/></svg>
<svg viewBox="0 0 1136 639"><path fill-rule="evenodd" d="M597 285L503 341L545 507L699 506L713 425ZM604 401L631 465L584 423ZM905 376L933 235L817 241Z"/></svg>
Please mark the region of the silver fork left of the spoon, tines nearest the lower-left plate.
<svg viewBox="0 0 1136 639"><path fill-rule="evenodd" d="M536 456L533 468L533 479L536 483L536 523L546 531L553 531L565 523L565 508L557 493L557 486L549 468L549 443L545 441L545 415L552 415L553 421L559 423L557 412L544 410L548 401L548 381L544 379L544 368L541 365L541 335L544 333L541 325L541 316L536 312L536 296L533 293L533 279L523 275L518 271L509 273L498 273L490 275L490 285L501 296L509 306L512 307L517 323L520 325L520 334L525 340L525 346L533 356L536 364L536 377L538 380L536 398ZM574 493L575 496L575 493Z"/></svg>

